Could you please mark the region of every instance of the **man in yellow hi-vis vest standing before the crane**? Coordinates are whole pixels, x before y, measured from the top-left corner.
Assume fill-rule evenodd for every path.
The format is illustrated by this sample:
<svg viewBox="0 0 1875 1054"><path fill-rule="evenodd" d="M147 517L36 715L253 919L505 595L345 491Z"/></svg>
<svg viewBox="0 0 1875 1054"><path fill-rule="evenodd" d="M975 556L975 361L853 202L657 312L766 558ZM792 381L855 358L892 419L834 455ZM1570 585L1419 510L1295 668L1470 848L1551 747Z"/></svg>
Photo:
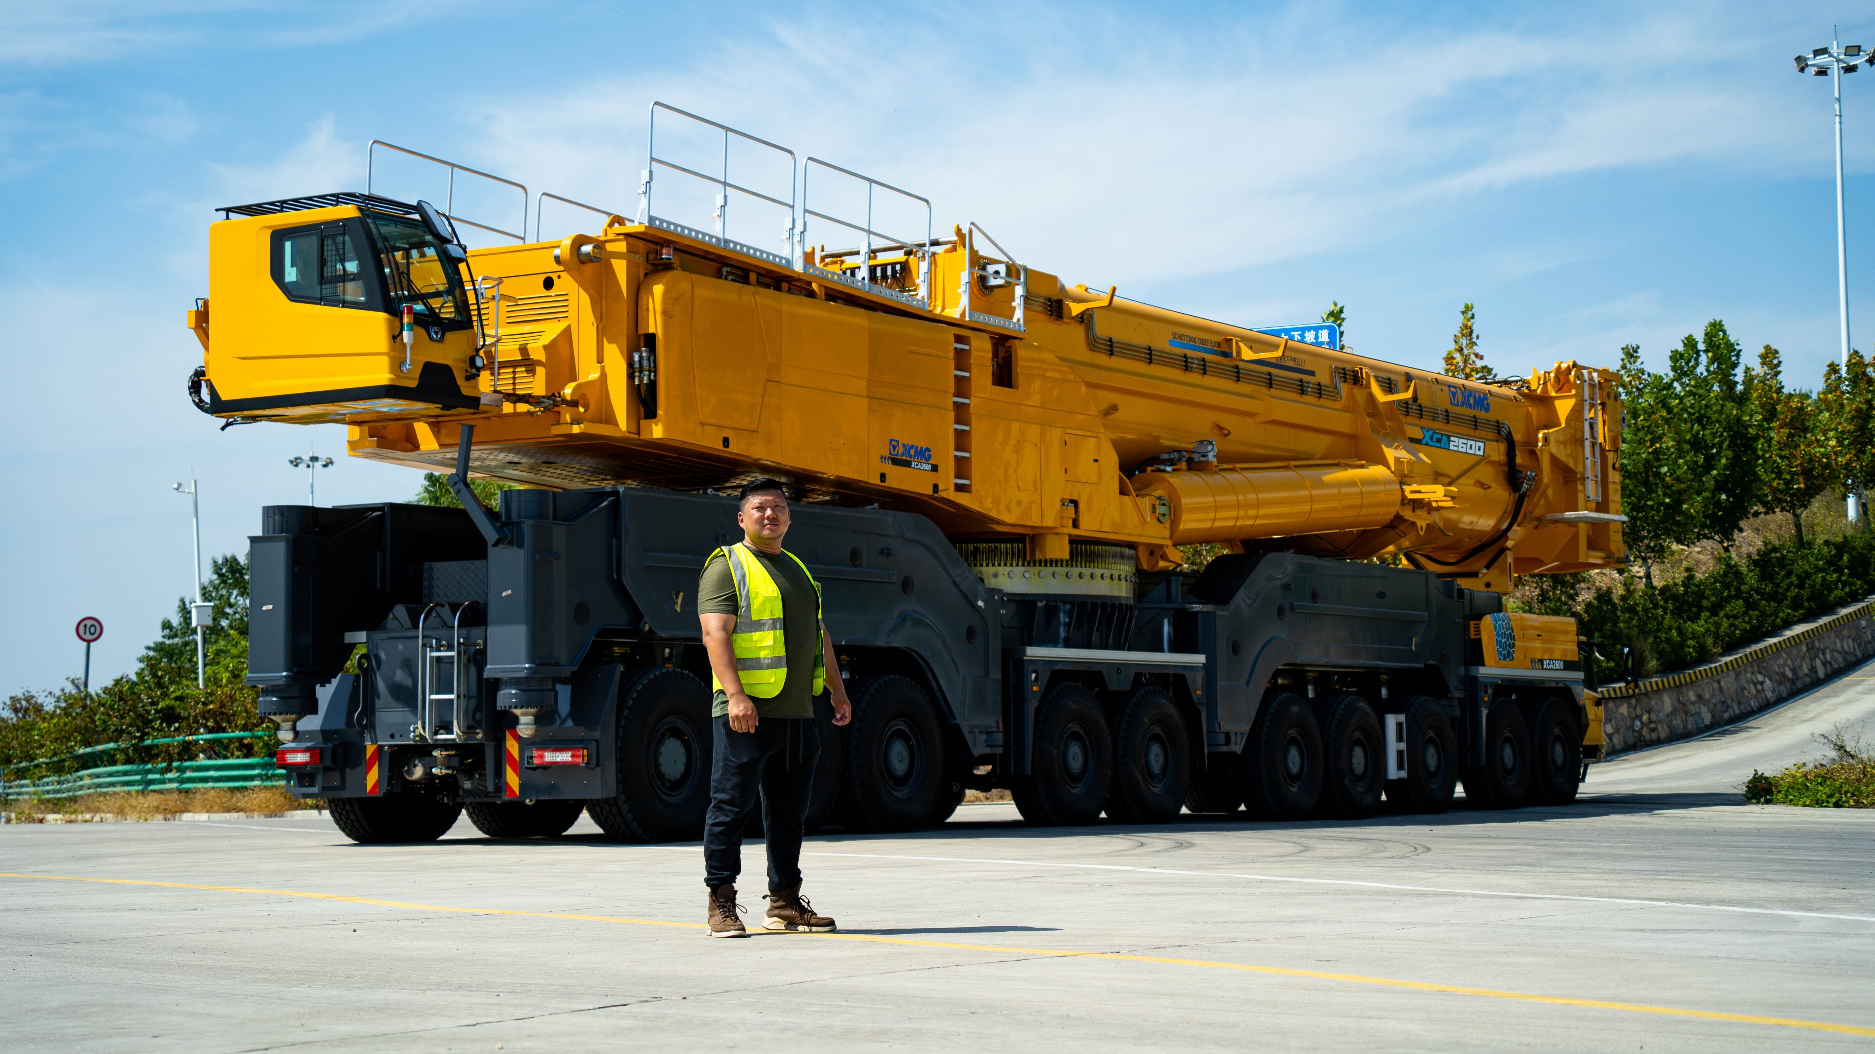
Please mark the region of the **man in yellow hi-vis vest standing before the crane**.
<svg viewBox="0 0 1875 1054"><path fill-rule="evenodd" d="M840 664L821 623L819 583L782 548L788 495L780 480L742 488L735 514L742 540L703 561L698 617L716 690L716 756L703 823L703 881L709 885L709 936L746 938L737 919L735 876L742 870L742 827L761 791L761 829L769 842L771 930L829 932L801 896L801 831L814 786L819 737L814 698L832 690L832 722L853 720Z"/></svg>

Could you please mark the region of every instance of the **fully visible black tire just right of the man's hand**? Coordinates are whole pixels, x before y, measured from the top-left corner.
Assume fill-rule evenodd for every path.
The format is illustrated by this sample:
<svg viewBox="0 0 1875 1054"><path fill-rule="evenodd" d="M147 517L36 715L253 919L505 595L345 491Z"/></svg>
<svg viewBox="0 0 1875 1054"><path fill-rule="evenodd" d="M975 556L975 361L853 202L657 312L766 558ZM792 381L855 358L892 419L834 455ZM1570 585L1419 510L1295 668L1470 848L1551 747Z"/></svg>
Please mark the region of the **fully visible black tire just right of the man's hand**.
<svg viewBox="0 0 1875 1054"><path fill-rule="evenodd" d="M917 831L943 788L943 737L930 696L909 677L868 677L846 726L846 805L862 831Z"/></svg>

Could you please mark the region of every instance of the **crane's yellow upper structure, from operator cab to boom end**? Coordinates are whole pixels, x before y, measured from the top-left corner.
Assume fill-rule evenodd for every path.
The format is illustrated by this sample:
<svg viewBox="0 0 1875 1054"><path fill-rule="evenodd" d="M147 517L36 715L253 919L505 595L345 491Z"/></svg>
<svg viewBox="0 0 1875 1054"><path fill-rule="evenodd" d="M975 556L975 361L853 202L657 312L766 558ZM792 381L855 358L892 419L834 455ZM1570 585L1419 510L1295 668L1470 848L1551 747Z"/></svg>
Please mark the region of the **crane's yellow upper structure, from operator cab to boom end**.
<svg viewBox="0 0 1875 1054"><path fill-rule="evenodd" d="M1502 593L1624 557L1607 369L1423 373L1067 285L975 225L793 263L609 216L463 253L428 208L225 210L189 317L199 405L343 422L351 454L433 471L472 426L472 473L536 488L771 474L1024 566L1221 544Z"/></svg>

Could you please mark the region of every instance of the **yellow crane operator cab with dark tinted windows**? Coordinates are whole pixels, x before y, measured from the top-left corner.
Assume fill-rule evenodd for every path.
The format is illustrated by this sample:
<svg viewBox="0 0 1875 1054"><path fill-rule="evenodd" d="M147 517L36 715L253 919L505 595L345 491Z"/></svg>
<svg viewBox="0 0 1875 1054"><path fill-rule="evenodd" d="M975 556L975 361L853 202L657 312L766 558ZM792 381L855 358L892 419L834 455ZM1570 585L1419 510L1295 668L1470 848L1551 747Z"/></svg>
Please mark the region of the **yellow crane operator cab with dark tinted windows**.
<svg viewBox="0 0 1875 1054"><path fill-rule="evenodd" d="M429 203L328 193L221 212L189 313L197 407L291 424L480 409L469 253Z"/></svg>

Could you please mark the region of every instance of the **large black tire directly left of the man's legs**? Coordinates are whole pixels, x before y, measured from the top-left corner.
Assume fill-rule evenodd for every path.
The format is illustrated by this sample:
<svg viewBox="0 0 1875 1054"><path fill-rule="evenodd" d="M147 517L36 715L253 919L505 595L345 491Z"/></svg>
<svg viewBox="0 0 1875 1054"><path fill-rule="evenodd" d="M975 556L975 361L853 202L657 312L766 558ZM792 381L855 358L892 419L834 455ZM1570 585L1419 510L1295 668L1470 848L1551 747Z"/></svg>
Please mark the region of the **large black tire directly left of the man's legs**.
<svg viewBox="0 0 1875 1054"><path fill-rule="evenodd" d="M617 793L587 803L615 842L692 842L709 812L714 724L709 690L690 673L651 668L619 688Z"/></svg>

